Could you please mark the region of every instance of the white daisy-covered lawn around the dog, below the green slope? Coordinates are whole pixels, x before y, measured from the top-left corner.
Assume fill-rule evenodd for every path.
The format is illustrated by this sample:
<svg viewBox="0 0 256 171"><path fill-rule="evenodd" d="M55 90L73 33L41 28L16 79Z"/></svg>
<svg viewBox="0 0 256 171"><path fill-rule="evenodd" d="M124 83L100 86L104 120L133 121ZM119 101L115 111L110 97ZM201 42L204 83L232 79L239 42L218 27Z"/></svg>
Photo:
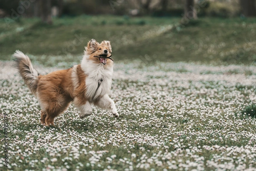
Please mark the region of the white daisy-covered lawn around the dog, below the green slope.
<svg viewBox="0 0 256 171"><path fill-rule="evenodd" d="M39 124L38 101L12 64L1 68L9 170L256 169L256 120L240 116L256 102L254 66L119 62L110 96L120 117L94 108L92 116L79 119L71 105L55 128ZM57 70L35 68L43 74Z"/></svg>

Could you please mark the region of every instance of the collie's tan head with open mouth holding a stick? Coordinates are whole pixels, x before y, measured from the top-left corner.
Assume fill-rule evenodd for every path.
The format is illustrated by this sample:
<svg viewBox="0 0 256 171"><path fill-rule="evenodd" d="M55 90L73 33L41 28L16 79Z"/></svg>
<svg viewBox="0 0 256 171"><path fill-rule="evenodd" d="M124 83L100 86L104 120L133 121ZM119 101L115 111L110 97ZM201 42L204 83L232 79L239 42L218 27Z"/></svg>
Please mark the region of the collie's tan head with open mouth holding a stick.
<svg viewBox="0 0 256 171"><path fill-rule="evenodd" d="M102 41L101 43L97 42L95 39L92 39L88 42L87 47L85 47L87 55L90 55L90 59L101 63L101 64L108 64L111 63L111 59L106 57L111 56L112 48L110 41ZM97 56L99 58L97 58ZM102 58L100 58L102 57Z"/></svg>

